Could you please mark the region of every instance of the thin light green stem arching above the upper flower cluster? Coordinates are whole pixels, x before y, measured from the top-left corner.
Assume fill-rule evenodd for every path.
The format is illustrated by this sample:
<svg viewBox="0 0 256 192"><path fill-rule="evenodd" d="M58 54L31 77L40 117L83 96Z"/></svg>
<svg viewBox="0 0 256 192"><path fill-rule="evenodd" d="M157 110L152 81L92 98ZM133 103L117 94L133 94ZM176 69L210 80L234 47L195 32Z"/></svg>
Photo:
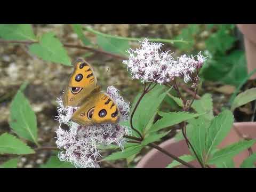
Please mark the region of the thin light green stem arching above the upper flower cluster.
<svg viewBox="0 0 256 192"><path fill-rule="evenodd" d="M101 33L100 31L94 30L91 27L84 27L85 30L95 34L95 35L100 35L103 37L107 38L115 38L115 39L120 39L120 40L126 40L126 41L143 41L146 37L140 37L140 38L134 38L134 37L121 37L121 36L115 36L115 35L109 35L109 34L104 34ZM191 43L188 41L183 41L183 40L170 40L170 39L162 39L162 38L149 38L148 41L151 42L162 42L162 43Z"/></svg>

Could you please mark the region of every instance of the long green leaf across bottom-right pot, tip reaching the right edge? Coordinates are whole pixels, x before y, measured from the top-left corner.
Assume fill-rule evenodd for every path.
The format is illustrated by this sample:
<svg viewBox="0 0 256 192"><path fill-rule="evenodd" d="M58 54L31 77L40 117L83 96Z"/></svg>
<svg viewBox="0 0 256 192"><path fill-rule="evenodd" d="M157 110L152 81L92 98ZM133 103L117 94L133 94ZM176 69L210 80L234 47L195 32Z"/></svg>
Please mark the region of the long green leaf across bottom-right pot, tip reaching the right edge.
<svg viewBox="0 0 256 192"><path fill-rule="evenodd" d="M239 154L241 151L251 147L255 142L256 140L243 140L229 145L223 149L220 149L210 157L208 163L216 164L220 162L225 162L228 159L233 158L235 155Z"/></svg>

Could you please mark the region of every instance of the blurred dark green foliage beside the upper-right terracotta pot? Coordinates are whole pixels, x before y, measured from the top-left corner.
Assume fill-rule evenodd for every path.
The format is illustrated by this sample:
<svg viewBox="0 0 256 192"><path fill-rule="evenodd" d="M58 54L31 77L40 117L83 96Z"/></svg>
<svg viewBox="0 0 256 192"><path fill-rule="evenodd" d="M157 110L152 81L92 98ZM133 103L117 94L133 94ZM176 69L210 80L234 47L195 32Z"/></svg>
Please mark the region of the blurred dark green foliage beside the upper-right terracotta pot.
<svg viewBox="0 0 256 192"><path fill-rule="evenodd" d="M215 30L212 30L212 29ZM207 24L206 31L210 34L204 40L207 61L201 69L201 77L208 81L216 81L238 86L247 76L246 60L244 51L233 50L236 42L234 24ZM181 51L194 53L196 48L195 36L199 39L199 26L190 24L183 28L176 39L185 39L193 43L175 43ZM199 41L199 40L198 40ZM194 52L193 52L194 51Z"/></svg>

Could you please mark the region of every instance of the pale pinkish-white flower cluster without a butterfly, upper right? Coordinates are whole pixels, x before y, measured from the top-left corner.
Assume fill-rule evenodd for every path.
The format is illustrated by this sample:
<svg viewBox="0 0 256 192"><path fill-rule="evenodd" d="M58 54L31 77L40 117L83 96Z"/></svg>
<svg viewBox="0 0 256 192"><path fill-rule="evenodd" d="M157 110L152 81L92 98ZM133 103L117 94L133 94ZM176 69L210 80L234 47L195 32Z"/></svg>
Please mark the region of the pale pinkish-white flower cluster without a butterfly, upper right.
<svg viewBox="0 0 256 192"><path fill-rule="evenodd" d="M145 38L139 49L130 49L129 60L123 63L130 70L132 78L141 79L141 82L155 82L164 84L173 81L175 77L183 78L184 82L191 81L191 74L201 68L205 57L201 53L193 57L182 55L174 60L169 51L161 51L162 43L151 43Z"/></svg>

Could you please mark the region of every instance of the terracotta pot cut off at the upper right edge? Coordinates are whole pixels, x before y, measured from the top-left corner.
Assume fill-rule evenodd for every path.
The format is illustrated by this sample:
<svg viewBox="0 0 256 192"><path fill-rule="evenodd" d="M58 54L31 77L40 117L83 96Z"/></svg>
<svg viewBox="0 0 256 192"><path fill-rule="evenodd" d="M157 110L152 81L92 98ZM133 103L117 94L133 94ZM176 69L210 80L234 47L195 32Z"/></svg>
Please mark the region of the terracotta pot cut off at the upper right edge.
<svg viewBox="0 0 256 192"><path fill-rule="evenodd" d="M237 24L244 35L244 46L248 73L256 68L256 24ZM254 74L250 79L256 79Z"/></svg>

